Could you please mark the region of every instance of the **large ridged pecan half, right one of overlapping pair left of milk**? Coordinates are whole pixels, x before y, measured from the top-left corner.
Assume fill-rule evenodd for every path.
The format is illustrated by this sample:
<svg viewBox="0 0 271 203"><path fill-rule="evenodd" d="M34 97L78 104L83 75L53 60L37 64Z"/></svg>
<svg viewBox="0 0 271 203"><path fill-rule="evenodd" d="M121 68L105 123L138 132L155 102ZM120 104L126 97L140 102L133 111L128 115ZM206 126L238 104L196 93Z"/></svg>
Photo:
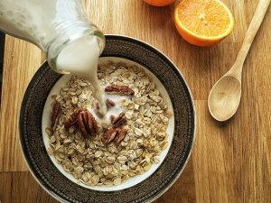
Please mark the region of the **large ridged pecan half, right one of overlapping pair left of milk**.
<svg viewBox="0 0 271 203"><path fill-rule="evenodd" d="M98 124L88 110L81 111L77 117L79 129L84 137L94 136L98 133Z"/></svg>

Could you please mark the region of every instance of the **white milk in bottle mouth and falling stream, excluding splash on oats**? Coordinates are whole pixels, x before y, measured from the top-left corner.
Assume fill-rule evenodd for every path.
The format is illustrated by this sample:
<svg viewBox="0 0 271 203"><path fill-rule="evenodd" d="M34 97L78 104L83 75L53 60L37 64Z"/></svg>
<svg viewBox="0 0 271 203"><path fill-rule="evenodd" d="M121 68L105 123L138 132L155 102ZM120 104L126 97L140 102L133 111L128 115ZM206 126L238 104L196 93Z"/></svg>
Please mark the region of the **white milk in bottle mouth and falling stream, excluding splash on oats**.
<svg viewBox="0 0 271 203"><path fill-rule="evenodd" d="M95 36L80 38L71 42L61 51L57 59L57 66L65 72L89 80L94 88L93 97L98 100L100 105L99 112L105 115L107 107L102 100L102 90L97 76L99 51Z"/></svg>

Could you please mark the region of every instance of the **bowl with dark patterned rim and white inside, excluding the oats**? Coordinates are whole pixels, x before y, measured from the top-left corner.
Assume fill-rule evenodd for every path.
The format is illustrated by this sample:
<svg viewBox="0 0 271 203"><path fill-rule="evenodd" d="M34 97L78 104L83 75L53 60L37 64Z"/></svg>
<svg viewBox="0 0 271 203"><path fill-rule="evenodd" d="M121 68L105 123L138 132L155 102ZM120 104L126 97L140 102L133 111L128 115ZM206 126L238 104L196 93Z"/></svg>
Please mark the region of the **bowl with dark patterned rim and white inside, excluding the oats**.
<svg viewBox="0 0 271 203"><path fill-rule="evenodd" d="M161 51L139 40L107 35L99 63L107 60L135 64L151 75L173 110L167 129L169 145L160 163L143 175L112 187L89 187L64 171L46 149L45 127L49 125L51 94L58 92L69 76L50 69L47 62L36 72L23 97L20 141L23 155L43 189L62 202L150 202L160 197L181 175L195 139L195 111L192 94L181 72Z"/></svg>

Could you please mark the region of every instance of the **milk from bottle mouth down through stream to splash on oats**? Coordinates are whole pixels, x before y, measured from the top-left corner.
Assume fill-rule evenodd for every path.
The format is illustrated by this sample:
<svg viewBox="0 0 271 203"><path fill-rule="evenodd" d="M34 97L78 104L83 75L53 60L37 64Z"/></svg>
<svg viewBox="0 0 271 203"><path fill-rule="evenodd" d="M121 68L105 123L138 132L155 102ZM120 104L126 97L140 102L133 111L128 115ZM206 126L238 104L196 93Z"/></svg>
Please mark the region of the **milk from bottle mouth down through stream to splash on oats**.
<svg viewBox="0 0 271 203"><path fill-rule="evenodd" d="M57 60L57 66L64 72L89 80L94 88L93 97L98 100L100 106L98 111L104 116L99 117L96 115L97 112L94 109L89 108L89 112L95 116L98 123L109 125L111 123L110 115L118 116L120 113L125 112L125 109L119 105L119 101L129 99L130 97L107 94L103 90L106 87L99 85L97 75L99 51L96 37L88 36L81 38L70 43L61 51ZM105 104L107 99L114 101L116 105L107 108Z"/></svg>

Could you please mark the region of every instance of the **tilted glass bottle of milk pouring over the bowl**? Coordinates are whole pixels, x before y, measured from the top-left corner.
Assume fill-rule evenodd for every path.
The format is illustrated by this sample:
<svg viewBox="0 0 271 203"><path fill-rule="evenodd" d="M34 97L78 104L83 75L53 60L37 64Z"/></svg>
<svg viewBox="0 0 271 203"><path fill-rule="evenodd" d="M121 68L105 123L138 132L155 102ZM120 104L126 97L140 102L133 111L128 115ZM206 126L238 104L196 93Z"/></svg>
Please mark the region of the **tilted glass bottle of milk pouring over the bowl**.
<svg viewBox="0 0 271 203"><path fill-rule="evenodd" d="M0 30L33 42L59 73L83 75L105 46L81 0L0 0Z"/></svg>

